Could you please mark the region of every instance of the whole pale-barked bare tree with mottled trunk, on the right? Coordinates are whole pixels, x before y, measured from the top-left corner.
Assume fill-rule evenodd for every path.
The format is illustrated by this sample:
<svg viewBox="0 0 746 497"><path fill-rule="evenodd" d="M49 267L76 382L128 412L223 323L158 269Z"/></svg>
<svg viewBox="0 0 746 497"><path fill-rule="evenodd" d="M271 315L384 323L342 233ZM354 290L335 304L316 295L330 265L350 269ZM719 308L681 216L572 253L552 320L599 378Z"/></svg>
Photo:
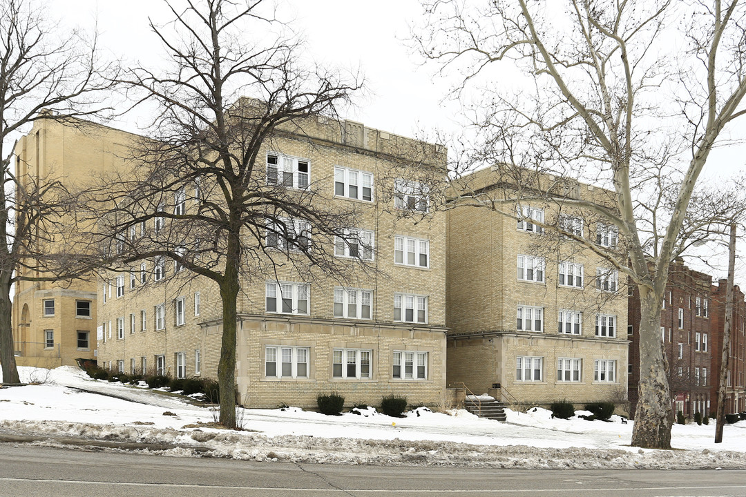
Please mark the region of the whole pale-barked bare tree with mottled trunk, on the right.
<svg viewBox="0 0 746 497"><path fill-rule="evenodd" d="M514 184L533 175L530 189L511 200L523 195L585 209L624 240L620 254L562 230L639 288L632 444L670 447L660 308L668 267L688 245L682 228L695 184L727 124L746 113L746 8L738 0L573 0L564 10L532 0L439 0L424 9L414 39L442 72L459 72L454 96L483 83L481 98L468 107L480 136L466 164L500 165ZM677 21L680 31L667 27L685 18ZM672 39L686 39L686 52L671 53ZM513 92L492 83L506 73L518 78ZM557 189L578 179L612 194L590 202ZM452 193L516 217L515 201L465 191L463 183ZM674 199L670 206L666 196Z"/></svg>

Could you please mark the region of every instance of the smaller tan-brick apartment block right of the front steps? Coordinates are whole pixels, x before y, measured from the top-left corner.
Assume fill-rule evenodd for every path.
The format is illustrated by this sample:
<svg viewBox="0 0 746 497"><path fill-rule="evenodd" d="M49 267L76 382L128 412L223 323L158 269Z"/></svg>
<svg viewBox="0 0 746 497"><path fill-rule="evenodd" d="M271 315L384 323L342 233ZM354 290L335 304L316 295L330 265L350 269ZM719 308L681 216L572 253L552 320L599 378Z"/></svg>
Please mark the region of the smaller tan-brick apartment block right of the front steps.
<svg viewBox="0 0 746 497"><path fill-rule="evenodd" d="M472 191L510 198L513 186L498 176L485 169L465 181ZM599 201L609 192L574 183L562 194ZM626 289L598 256L536 223L559 224L607 248L617 246L618 233L581 210L560 212L558 203L506 204L497 203L520 214L471 206L448 211L448 384L518 407L623 401Z"/></svg>

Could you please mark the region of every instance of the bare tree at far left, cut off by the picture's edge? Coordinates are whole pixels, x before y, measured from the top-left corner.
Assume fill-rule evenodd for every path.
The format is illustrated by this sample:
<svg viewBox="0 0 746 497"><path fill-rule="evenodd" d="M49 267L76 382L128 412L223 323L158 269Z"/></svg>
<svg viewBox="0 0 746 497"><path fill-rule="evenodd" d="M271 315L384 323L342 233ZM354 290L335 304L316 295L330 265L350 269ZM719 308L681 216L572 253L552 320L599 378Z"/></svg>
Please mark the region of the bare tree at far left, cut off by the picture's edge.
<svg viewBox="0 0 746 497"><path fill-rule="evenodd" d="M116 77L116 66L99 60L95 37L80 31L63 35L56 28L41 3L0 1L0 362L9 383L19 381L11 285L71 276L60 265L70 254L49 252L62 233L52 220L69 208L66 190L54 177L16 177L12 140L40 119L75 125L69 118L105 113L101 90L112 89Z"/></svg>

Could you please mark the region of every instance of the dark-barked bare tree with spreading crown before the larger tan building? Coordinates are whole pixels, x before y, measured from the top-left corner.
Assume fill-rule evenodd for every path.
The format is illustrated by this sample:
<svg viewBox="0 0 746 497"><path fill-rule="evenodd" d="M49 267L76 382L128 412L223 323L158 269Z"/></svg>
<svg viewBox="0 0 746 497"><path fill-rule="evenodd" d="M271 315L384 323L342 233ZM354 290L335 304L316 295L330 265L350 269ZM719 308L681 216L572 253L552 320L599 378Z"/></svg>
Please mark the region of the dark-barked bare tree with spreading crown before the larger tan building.
<svg viewBox="0 0 746 497"><path fill-rule="evenodd" d="M273 275L279 265L331 273L323 247L334 247L335 235L366 250L365 240L343 231L354 226L356 210L332 209L309 182L308 164L290 171L268 165L263 152L280 148L283 137L303 136L305 126L340 136L339 123L327 118L360 82L302 60L301 42L286 36L266 2L187 0L183 10L166 3L172 22L151 22L151 28L169 64L163 72L132 69L126 78L144 91L143 101L159 106L153 133L128 170L98 192L107 205L99 206L101 235L113 235L113 264L120 269L168 258L177 272L184 268L216 283L223 326L220 422L233 428L242 282ZM194 208L191 202L184 208L187 197Z"/></svg>

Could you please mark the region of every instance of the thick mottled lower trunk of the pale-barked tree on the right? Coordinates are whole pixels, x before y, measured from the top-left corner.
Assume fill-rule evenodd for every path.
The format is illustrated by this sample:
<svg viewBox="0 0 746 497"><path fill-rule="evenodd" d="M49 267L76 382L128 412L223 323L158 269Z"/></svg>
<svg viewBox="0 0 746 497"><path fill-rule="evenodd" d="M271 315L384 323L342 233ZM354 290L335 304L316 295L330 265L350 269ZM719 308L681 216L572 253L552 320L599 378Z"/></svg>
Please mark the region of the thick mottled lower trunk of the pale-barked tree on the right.
<svg viewBox="0 0 746 497"><path fill-rule="evenodd" d="M668 368L660 338L662 298L656 298L651 290L640 290L640 379L632 445L650 449L671 449L674 423Z"/></svg>

